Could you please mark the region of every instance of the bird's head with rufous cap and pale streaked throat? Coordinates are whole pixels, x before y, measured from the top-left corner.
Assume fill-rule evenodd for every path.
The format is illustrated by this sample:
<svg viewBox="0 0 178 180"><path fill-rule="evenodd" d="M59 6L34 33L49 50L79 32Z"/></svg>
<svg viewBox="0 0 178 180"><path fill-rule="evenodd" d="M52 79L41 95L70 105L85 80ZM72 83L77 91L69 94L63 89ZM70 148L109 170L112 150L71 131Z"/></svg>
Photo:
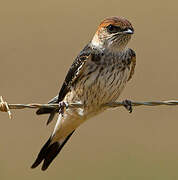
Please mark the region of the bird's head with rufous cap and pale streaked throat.
<svg viewBox="0 0 178 180"><path fill-rule="evenodd" d="M108 17L99 25L91 44L98 49L122 51L131 39L134 29L123 17Z"/></svg>

